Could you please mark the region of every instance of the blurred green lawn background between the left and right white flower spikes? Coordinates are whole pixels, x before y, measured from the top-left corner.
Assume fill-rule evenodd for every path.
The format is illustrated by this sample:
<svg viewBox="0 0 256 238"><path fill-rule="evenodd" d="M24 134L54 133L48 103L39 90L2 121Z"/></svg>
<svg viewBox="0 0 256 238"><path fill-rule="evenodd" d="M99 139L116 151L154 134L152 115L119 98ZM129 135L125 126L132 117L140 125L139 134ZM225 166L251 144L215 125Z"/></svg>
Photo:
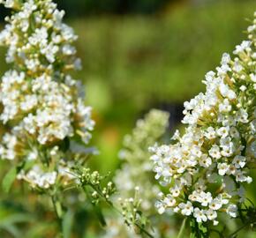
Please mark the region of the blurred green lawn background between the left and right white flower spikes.
<svg viewBox="0 0 256 238"><path fill-rule="evenodd" d="M97 123L92 144L101 154L94 166L117 167L124 133L147 109L181 104L203 90L205 73L245 39L245 19L255 9L255 1L212 1L177 4L154 17L69 20L84 66L77 78L86 83ZM6 69L2 60L1 73Z"/></svg>

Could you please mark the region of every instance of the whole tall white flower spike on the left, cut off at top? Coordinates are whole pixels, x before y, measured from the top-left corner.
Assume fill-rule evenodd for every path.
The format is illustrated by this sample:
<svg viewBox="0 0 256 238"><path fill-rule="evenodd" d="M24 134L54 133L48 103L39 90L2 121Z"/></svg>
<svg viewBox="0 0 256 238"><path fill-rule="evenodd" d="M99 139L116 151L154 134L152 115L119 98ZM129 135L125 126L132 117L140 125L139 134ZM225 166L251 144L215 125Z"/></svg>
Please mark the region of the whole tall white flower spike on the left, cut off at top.
<svg viewBox="0 0 256 238"><path fill-rule="evenodd" d="M13 11L0 33L0 44L8 48L6 62L14 67L0 81L0 157L41 163L19 177L47 188L64 161L69 170L72 155L65 151L71 142L87 144L94 129L91 108L79 96L79 82L69 75L80 68L72 46L77 36L62 22L64 11L51 0L1 3Z"/></svg>

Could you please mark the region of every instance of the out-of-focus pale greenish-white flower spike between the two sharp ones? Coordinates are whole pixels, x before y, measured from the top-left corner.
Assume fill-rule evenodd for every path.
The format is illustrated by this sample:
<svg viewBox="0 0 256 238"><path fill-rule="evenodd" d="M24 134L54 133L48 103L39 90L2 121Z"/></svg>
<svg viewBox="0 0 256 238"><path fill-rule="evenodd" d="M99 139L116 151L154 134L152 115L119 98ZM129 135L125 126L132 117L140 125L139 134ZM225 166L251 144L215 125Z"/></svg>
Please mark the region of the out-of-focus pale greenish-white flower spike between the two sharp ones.
<svg viewBox="0 0 256 238"><path fill-rule="evenodd" d="M114 177L117 190L122 197L133 197L134 188L139 187L141 208L143 211L152 209L152 200L158 194L158 186L152 182L152 161L147 148L155 141L162 139L169 125L169 114L153 109L140 119L132 135L124 137L124 149L119 153L124 160L122 167Z"/></svg>

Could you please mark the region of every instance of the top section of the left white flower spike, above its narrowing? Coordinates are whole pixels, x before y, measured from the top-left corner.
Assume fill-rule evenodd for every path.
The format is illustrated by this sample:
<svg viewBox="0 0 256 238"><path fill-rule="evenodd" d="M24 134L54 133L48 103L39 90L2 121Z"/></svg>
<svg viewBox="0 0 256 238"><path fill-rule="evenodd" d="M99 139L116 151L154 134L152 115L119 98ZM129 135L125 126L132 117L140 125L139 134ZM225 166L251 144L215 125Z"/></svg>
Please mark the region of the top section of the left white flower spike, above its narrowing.
<svg viewBox="0 0 256 238"><path fill-rule="evenodd" d="M0 42L8 46L6 61L22 71L41 74L59 73L80 68L72 43L77 40L70 26L62 22L64 11L58 11L51 0L4 1L14 13Z"/></svg>

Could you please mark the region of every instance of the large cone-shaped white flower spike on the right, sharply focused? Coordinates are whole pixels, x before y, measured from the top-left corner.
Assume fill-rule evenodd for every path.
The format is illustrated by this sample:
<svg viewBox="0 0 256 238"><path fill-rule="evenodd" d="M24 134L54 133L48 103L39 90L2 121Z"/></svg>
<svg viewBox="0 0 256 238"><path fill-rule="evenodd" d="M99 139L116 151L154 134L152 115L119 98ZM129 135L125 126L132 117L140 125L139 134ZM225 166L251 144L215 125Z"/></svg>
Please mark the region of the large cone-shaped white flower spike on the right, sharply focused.
<svg viewBox="0 0 256 238"><path fill-rule="evenodd" d="M256 19L248 35L233 60L224 54L216 72L207 73L206 93L184 103L184 134L177 131L173 144L150 148L155 178L169 187L159 194L160 213L171 210L214 225L219 212L237 217L256 155Z"/></svg>

